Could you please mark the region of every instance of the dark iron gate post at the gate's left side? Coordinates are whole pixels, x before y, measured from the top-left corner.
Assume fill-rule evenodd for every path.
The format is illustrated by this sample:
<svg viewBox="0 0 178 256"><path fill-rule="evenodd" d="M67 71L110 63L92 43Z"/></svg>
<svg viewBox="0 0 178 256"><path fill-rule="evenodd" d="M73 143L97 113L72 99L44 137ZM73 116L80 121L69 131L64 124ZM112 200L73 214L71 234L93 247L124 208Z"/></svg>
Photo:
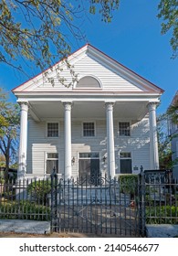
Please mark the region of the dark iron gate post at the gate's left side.
<svg viewBox="0 0 178 256"><path fill-rule="evenodd" d="M51 174L51 232L58 228L58 175L55 168Z"/></svg>

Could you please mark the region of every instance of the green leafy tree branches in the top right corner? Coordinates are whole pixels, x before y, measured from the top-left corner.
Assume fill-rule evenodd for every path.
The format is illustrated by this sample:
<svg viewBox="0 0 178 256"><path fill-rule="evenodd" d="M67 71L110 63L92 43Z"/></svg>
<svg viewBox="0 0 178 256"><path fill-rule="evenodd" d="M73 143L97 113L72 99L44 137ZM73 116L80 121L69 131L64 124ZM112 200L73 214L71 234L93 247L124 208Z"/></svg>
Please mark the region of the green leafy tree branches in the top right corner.
<svg viewBox="0 0 178 256"><path fill-rule="evenodd" d="M162 18L162 34L172 31L170 44L173 48L173 58L178 56L178 1L161 0L158 5L158 17Z"/></svg>

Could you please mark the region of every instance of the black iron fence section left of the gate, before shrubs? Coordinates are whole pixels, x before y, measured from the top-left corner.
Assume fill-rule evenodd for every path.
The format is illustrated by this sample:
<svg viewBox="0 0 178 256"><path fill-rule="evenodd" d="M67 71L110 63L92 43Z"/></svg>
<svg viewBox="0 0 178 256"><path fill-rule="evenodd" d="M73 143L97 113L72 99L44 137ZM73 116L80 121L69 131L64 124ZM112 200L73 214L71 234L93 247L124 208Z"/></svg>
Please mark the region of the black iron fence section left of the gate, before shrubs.
<svg viewBox="0 0 178 256"><path fill-rule="evenodd" d="M0 219L50 220L50 180L0 180Z"/></svg>

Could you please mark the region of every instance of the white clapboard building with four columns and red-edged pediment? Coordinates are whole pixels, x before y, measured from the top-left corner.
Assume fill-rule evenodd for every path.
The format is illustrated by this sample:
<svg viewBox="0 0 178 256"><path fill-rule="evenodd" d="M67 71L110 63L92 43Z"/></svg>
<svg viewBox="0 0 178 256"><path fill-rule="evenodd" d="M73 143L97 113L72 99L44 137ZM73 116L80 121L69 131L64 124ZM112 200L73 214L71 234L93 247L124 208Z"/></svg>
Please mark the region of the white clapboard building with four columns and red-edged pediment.
<svg viewBox="0 0 178 256"><path fill-rule="evenodd" d="M49 176L54 167L61 177L159 169L163 90L89 44L68 63L77 80L60 61L13 90L21 107L18 176Z"/></svg>

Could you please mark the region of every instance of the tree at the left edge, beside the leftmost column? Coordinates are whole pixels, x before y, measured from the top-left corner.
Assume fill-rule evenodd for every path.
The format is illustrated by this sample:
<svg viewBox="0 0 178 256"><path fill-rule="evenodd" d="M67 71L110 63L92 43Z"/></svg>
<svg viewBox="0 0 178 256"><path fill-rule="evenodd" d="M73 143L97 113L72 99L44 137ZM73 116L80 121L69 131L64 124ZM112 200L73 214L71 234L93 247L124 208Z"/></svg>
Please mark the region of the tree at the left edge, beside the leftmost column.
<svg viewBox="0 0 178 256"><path fill-rule="evenodd" d="M5 157L5 177L9 166L16 163L20 114L19 106L7 101L7 93L0 89L0 155Z"/></svg>

